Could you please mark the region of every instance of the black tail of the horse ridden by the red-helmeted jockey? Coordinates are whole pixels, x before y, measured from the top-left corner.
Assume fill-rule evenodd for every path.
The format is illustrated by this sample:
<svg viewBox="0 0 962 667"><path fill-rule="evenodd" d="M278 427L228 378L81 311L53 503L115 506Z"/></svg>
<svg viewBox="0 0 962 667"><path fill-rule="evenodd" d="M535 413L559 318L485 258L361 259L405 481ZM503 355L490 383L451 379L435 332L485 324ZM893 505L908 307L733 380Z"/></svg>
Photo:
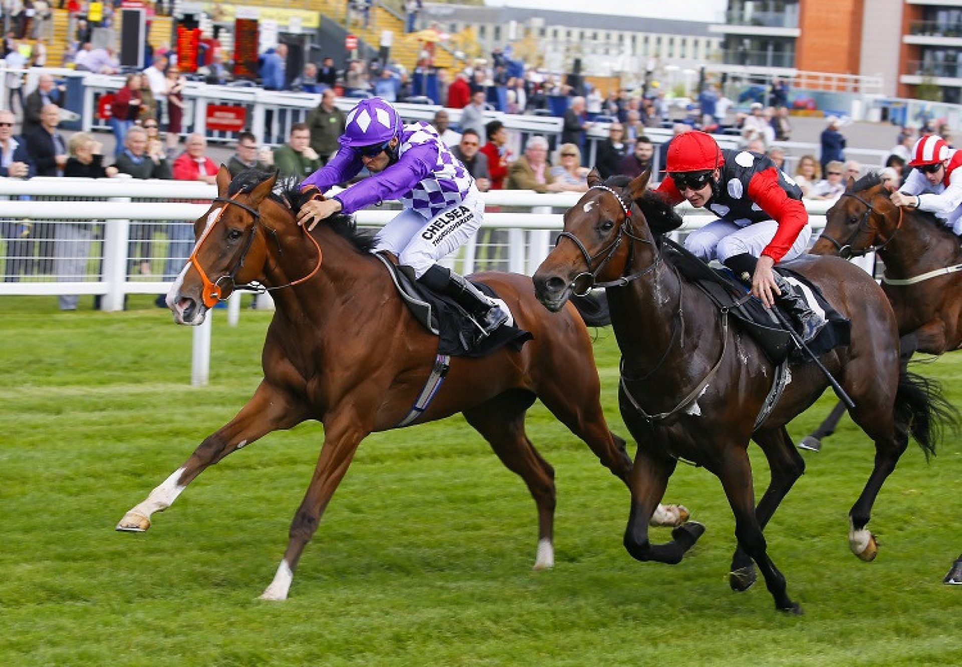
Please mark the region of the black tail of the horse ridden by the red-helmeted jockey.
<svg viewBox="0 0 962 667"><path fill-rule="evenodd" d="M907 425L925 452L925 460L935 455L945 427L954 432L959 429L958 410L943 395L942 385L904 367L899 371L895 414L896 422Z"/></svg>

